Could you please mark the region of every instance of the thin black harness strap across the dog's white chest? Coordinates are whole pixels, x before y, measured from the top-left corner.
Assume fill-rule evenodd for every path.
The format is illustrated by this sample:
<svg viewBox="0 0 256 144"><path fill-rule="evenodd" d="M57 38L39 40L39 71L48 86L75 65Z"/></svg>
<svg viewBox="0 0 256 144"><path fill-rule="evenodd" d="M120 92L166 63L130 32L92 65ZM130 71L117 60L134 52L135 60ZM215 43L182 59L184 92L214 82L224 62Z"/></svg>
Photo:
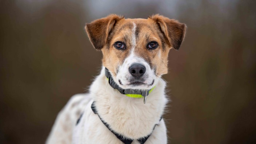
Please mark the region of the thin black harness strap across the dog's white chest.
<svg viewBox="0 0 256 144"><path fill-rule="evenodd" d="M96 115L99 116L99 114L97 113L97 109L96 109L94 103L95 103L95 101L93 101L93 103L91 105L92 111L93 111L93 113L95 113ZM117 137L117 139L121 140L124 144L131 144L132 143L133 139L128 138L128 137L124 137L124 136L120 135L119 133L113 131L111 128L109 128L109 124L108 123L106 123L103 119L101 119L100 116L99 116L99 118L102 121L102 123L109 129L109 131L111 131ZM161 116L160 121L162 120L162 118L163 117ZM155 129L156 125L157 124L155 124L153 130ZM147 141L147 139L149 138L149 136L152 134L152 132L148 136L145 136L145 137L142 137L140 139L137 139L137 141L139 141L140 144L144 144Z"/></svg>

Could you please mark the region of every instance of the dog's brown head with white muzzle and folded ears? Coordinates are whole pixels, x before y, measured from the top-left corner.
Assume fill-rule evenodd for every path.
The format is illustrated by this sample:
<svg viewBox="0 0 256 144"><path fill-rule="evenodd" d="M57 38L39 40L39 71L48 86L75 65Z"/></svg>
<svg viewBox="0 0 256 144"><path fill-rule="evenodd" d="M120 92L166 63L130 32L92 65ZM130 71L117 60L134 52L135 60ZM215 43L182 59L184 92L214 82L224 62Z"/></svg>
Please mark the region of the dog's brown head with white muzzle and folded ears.
<svg viewBox="0 0 256 144"><path fill-rule="evenodd" d="M168 71L168 52L179 49L186 25L160 15L124 19L117 15L85 26L95 49L103 52L103 65L123 89L151 89Z"/></svg>

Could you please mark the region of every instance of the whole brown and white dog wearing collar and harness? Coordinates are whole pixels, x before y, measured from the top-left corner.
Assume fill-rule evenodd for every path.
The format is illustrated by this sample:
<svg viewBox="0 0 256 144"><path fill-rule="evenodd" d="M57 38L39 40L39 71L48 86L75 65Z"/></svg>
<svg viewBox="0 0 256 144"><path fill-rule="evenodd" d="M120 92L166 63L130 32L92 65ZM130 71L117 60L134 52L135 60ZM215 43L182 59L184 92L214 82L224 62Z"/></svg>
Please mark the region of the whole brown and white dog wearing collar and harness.
<svg viewBox="0 0 256 144"><path fill-rule="evenodd" d="M72 96L46 144L167 144L162 118L168 102L168 53L179 49L186 25L161 15L109 15L86 24L102 69L87 94Z"/></svg>

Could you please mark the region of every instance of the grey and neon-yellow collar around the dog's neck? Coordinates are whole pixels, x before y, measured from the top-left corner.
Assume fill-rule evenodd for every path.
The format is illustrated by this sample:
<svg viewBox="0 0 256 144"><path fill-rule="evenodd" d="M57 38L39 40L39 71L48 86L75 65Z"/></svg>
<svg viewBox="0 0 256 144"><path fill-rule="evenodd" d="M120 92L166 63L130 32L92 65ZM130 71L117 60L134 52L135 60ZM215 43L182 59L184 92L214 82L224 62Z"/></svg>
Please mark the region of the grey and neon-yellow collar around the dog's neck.
<svg viewBox="0 0 256 144"><path fill-rule="evenodd" d="M153 91L153 89L156 87L153 87L152 89L148 89L145 91L141 91L140 89L123 89L120 88L115 81L113 80L113 77L111 76L110 72L108 71L107 68L105 68L105 76L108 79L108 83L109 85L113 88L113 89L117 89L121 94L124 94L128 97L134 97L134 98L142 98L144 97L144 104L146 103L146 99L147 96L149 95L149 93L151 93Z"/></svg>

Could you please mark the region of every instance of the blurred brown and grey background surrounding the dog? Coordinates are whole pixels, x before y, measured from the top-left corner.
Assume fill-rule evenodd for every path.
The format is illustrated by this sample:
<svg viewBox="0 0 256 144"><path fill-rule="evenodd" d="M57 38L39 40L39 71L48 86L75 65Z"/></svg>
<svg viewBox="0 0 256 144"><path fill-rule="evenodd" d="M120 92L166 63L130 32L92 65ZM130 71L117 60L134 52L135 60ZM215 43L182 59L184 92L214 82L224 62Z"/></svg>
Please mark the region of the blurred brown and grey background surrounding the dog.
<svg viewBox="0 0 256 144"><path fill-rule="evenodd" d="M43 144L57 113L101 68L85 23L159 13L187 24L169 53L172 144L255 143L256 1L0 0L0 143Z"/></svg>

